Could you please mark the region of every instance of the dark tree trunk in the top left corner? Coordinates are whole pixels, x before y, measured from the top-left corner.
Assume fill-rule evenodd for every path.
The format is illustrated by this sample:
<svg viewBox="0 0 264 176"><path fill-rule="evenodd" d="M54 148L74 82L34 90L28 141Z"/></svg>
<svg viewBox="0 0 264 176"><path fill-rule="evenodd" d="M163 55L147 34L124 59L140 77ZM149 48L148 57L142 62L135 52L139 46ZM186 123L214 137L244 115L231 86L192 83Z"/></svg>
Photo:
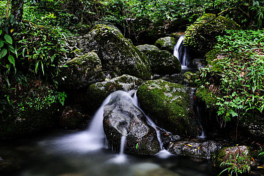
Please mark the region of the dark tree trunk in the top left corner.
<svg viewBox="0 0 264 176"><path fill-rule="evenodd" d="M14 15L16 22L21 23L23 17L23 0L12 0L11 1L11 14Z"/></svg>

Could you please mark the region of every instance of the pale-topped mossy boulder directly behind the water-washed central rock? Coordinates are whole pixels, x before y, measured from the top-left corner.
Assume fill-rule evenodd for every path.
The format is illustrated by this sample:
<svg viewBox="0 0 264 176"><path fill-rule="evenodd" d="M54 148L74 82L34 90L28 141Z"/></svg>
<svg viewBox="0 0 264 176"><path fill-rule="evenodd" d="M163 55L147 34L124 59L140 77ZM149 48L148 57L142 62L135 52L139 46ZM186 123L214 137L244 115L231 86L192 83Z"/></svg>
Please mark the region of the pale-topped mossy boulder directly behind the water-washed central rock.
<svg viewBox="0 0 264 176"><path fill-rule="evenodd" d="M134 76L124 74L104 82L90 85L87 91L87 104L97 109L111 93L115 91L131 91L138 88L143 80Z"/></svg>

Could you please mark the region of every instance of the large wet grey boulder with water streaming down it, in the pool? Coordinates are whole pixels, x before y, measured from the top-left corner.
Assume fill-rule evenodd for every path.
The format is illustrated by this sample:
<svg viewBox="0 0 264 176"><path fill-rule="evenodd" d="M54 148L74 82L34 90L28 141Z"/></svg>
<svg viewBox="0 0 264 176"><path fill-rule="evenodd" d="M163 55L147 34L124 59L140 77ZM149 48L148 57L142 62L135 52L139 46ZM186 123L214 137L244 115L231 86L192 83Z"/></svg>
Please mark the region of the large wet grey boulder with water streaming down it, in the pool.
<svg viewBox="0 0 264 176"><path fill-rule="evenodd" d="M155 129L146 123L146 117L126 92L112 94L104 107L103 124L107 140L116 150L120 149L122 136L126 136L126 153L152 155L160 150Z"/></svg>

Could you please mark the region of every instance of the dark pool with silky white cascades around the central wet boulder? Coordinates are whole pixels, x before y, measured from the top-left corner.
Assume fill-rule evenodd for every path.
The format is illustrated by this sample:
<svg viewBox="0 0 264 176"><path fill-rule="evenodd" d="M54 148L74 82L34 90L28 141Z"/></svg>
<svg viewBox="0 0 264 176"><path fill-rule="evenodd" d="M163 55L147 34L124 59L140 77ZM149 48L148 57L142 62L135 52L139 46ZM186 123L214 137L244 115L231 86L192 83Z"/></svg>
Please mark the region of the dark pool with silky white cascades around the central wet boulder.
<svg viewBox="0 0 264 176"><path fill-rule="evenodd" d="M135 92L122 94L140 107ZM120 153L108 148L102 121L104 105L109 101L110 96L87 130L55 129L32 138L0 141L0 156L13 161L13 168L0 175L217 175L208 160L175 156L166 150L154 156L125 154L125 136ZM148 121L158 134L156 125Z"/></svg>

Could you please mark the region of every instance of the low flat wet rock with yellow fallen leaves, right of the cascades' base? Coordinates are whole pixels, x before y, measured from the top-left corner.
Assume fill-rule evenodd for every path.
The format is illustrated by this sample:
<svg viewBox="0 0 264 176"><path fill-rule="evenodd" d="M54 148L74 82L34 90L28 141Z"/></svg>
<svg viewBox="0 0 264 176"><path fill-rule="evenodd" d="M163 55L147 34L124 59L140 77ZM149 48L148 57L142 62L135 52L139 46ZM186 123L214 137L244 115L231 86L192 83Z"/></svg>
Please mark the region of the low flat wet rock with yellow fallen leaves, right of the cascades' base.
<svg viewBox="0 0 264 176"><path fill-rule="evenodd" d="M211 158L212 154L222 148L220 143L215 141L177 141L170 143L168 151L175 155L192 156L199 158Z"/></svg>

